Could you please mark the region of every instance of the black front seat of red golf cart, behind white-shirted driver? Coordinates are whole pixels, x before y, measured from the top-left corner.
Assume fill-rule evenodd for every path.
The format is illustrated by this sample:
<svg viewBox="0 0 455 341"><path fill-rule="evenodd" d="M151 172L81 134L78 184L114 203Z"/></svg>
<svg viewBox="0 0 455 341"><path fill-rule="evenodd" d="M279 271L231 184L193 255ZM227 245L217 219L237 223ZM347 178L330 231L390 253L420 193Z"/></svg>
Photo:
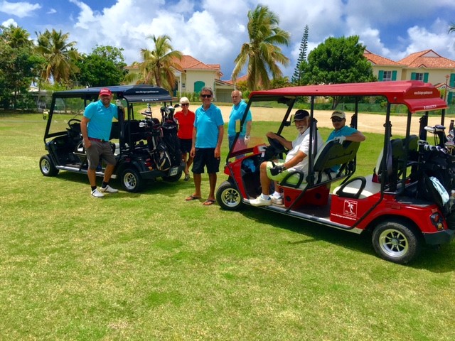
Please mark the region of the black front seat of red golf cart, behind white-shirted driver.
<svg viewBox="0 0 455 341"><path fill-rule="evenodd" d="M304 189L346 178L355 171L350 162L354 160L359 146L360 142L345 141L339 144L338 141L327 141L314 158L313 176L305 176L300 171L291 172L279 185Z"/></svg>

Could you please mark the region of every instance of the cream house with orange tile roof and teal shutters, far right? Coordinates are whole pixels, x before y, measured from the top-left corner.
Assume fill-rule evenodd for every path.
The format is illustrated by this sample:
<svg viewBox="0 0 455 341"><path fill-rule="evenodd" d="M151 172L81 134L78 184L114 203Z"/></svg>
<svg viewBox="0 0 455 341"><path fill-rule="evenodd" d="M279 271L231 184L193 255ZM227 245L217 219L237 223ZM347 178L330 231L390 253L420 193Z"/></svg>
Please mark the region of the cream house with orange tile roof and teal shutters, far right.
<svg viewBox="0 0 455 341"><path fill-rule="evenodd" d="M455 87L455 61L444 58L434 50L411 53L395 62L365 49L363 53L373 66L373 74L380 82L387 80L421 80L447 87L447 102L451 102Z"/></svg>

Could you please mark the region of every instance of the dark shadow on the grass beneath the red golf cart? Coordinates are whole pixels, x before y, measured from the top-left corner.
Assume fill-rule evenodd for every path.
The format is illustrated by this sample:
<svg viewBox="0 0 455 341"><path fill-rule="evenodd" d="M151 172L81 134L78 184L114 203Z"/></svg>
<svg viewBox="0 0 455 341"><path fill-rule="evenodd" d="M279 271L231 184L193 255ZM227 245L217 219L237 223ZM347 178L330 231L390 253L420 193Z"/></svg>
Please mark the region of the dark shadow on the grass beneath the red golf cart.
<svg viewBox="0 0 455 341"><path fill-rule="evenodd" d="M264 212L267 212L264 214ZM289 217L278 212L270 212L258 210L256 207L245 207L240 211L242 215L249 219L255 220L264 224L271 224L279 229L287 229L291 232L296 232L305 236L299 241L289 242L290 245L309 244L311 242L328 242L353 251L358 251L363 254L376 256L375 250L371 244L370 232L362 234L354 234L325 226L316 222L307 222L296 217ZM446 273L455 270L455 262L451 261L455 258L455 244L441 245L441 247L424 246L422 251L417 256L417 259L405 266L413 269L425 269L434 273ZM379 259L379 258L378 258ZM385 260L381 260L385 261ZM401 266L398 265L397 266Z"/></svg>

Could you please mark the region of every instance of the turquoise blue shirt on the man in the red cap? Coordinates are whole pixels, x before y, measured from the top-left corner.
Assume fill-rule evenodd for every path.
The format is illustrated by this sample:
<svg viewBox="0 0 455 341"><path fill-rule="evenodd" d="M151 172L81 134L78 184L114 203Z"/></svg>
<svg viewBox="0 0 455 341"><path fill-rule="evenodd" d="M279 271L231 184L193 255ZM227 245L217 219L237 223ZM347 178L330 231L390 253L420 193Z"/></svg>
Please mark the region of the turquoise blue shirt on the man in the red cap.
<svg viewBox="0 0 455 341"><path fill-rule="evenodd" d="M119 119L117 105L105 107L100 100L85 107L84 116L90 121L87 124L88 137L108 141L111 135L112 117Z"/></svg>

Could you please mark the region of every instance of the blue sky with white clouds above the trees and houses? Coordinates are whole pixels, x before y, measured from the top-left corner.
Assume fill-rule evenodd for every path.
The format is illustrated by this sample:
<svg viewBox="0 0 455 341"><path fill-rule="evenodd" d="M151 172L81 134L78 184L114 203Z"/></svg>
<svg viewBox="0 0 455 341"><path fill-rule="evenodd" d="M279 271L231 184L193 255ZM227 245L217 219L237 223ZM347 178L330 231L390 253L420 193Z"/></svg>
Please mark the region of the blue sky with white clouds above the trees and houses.
<svg viewBox="0 0 455 341"><path fill-rule="evenodd" d="M294 72L305 25L309 51L329 36L355 34L368 50L392 60L427 49L455 60L455 33L447 33L454 0L0 0L0 23L21 26L31 38L46 28L70 33L82 53L96 45L124 48L127 63L140 61L141 48L152 48L147 36L167 34L174 49L220 64L228 80L248 40L247 12L259 3L291 33L290 45L282 47L291 59L284 75Z"/></svg>

